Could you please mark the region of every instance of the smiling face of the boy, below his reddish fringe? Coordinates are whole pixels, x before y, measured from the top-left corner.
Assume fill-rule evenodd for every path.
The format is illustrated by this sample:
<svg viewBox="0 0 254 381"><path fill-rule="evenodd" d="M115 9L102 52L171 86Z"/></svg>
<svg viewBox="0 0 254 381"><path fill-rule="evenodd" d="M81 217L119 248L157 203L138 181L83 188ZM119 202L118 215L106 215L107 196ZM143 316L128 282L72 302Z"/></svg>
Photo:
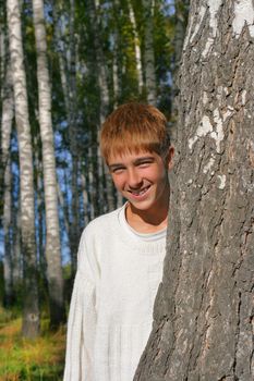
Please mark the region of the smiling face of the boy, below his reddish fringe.
<svg viewBox="0 0 254 381"><path fill-rule="evenodd" d="M156 152L125 152L111 156L108 167L117 189L134 208L156 212L168 205L172 156L173 148L165 160Z"/></svg>

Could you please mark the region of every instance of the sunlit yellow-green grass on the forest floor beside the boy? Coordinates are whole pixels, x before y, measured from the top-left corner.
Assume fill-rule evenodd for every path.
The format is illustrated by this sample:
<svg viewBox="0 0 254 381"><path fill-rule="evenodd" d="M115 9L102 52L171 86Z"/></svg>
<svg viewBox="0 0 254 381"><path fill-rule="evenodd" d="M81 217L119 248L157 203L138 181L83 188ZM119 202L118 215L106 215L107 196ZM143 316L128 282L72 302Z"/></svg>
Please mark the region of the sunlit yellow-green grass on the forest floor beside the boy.
<svg viewBox="0 0 254 381"><path fill-rule="evenodd" d="M52 333L41 322L40 337L31 341L21 335L21 318L0 309L0 381L62 380L65 332Z"/></svg>

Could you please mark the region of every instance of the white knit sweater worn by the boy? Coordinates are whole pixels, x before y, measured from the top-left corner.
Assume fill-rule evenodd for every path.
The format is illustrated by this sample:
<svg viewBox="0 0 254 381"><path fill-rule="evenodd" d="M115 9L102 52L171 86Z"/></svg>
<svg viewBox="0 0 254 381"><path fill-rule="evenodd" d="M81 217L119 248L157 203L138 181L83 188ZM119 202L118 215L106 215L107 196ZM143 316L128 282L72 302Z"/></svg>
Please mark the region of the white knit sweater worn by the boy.
<svg viewBox="0 0 254 381"><path fill-rule="evenodd" d="M78 249L64 381L131 381L147 343L166 231L135 234L124 207L92 221Z"/></svg>

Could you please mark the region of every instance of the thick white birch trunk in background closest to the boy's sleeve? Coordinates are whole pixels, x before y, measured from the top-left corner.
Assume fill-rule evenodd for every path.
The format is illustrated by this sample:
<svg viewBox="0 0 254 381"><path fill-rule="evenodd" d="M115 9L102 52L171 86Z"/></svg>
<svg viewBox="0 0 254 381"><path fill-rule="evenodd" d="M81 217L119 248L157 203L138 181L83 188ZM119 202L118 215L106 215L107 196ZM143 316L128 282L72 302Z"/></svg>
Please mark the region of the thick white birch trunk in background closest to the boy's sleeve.
<svg viewBox="0 0 254 381"><path fill-rule="evenodd" d="M63 278L61 268L58 216L57 173L51 121L51 86L47 66L47 46L43 0L33 0L37 81L39 97L39 125L43 143L44 188L46 206L46 259L50 299L50 325L56 328L65 319Z"/></svg>

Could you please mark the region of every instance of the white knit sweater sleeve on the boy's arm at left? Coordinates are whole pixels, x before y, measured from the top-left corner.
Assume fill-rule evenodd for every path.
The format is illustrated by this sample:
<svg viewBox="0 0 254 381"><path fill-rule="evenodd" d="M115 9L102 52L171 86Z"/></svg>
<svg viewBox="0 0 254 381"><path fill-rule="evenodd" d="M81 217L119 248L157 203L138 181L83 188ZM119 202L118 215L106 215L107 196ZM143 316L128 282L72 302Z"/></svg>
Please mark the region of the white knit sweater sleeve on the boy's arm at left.
<svg viewBox="0 0 254 381"><path fill-rule="evenodd" d="M96 276L92 259L93 253L87 249L84 232L77 254L77 272L69 311L63 381L94 380L93 346L96 327Z"/></svg>

